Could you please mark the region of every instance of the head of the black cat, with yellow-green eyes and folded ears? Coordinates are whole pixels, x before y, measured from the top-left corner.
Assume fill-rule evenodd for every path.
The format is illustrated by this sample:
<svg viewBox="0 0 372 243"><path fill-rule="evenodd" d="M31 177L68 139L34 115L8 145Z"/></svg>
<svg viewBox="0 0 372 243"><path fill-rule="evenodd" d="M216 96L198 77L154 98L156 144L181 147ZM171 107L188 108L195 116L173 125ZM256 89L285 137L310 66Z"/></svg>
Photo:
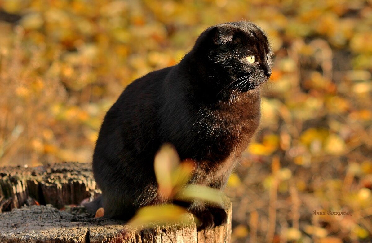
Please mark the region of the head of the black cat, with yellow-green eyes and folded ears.
<svg viewBox="0 0 372 243"><path fill-rule="evenodd" d="M260 87L271 75L270 45L265 33L251 22L212 26L196 42L196 53L205 55L205 71L214 85L228 92Z"/></svg>

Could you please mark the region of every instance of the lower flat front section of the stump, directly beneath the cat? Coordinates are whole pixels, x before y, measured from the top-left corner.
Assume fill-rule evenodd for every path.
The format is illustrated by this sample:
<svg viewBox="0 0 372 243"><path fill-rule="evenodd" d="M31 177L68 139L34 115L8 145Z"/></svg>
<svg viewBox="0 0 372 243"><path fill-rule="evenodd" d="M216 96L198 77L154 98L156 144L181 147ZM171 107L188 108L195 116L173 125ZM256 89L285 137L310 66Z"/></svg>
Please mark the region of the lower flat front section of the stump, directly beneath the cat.
<svg viewBox="0 0 372 243"><path fill-rule="evenodd" d="M121 221L91 218L79 208L60 211L52 205L22 207L0 214L1 243L229 243L231 203L227 224L196 231L192 214L178 224L138 230Z"/></svg>

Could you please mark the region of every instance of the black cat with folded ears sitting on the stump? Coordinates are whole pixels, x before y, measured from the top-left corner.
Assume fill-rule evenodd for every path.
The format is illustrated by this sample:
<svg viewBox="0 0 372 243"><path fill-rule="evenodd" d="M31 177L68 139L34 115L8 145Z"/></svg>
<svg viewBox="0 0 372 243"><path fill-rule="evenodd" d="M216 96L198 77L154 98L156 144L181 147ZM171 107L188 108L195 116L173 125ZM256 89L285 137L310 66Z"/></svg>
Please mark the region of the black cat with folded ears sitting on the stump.
<svg viewBox="0 0 372 243"><path fill-rule="evenodd" d="M197 162L190 183L224 188L259 125L259 87L270 75L267 37L244 21L209 27L179 64L132 82L102 123L93 155L102 197L87 208L126 220L141 206L164 203L154 174L163 143ZM203 228L225 220L219 208L193 203L189 210Z"/></svg>

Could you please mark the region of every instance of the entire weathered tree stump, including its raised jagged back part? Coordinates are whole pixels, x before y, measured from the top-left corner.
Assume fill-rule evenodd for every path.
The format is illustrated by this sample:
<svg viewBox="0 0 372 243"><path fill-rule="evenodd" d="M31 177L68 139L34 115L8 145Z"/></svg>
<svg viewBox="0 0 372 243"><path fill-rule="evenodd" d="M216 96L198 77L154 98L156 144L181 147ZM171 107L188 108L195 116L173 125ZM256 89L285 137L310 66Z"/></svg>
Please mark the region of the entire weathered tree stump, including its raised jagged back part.
<svg viewBox="0 0 372 243"><path fill-rule="evenodd" d="M229 243L231 203L227 224L196 231L192 214L182 223L154 224L150 229L129 227L123 221L92 218L84 208L58 210L79 204L99 191L90 163L62 163L37 168L1 168L1 243ZM33 199L40 204L30 205ZM17 209L18 208L18 209Z"/></svg>

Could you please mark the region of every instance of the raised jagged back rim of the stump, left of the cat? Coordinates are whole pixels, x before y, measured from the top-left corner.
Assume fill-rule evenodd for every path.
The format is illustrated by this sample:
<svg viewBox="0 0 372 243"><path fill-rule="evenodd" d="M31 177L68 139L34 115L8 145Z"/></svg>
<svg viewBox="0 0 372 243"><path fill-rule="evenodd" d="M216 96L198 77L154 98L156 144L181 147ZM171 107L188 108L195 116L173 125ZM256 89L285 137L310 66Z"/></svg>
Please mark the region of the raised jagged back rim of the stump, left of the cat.
<svg viewBox="0 0 372 243"><path fill-rule="evenodd" d="M0 168L0 212L32 205L33 199L62 208L80 204L97 192L91 163Z"/></svg>

